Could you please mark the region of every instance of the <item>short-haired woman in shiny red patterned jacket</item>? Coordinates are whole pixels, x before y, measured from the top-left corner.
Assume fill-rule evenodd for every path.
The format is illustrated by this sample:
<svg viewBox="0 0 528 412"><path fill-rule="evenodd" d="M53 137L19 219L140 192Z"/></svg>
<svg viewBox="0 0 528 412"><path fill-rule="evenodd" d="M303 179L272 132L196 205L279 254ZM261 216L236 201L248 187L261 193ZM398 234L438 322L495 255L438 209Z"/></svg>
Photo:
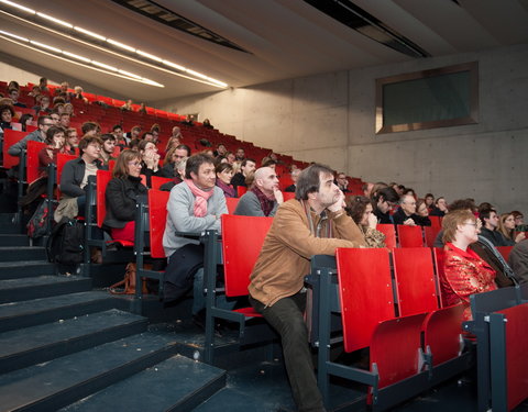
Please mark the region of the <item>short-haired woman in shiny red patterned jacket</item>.
<svg viewBox="0 0 528 412"><path fill-rule="evenodd" d="M450 211L443 218L442 229L446 243L442 296L448 305L462 303L463 320L470 321L470 296L497 289L495 270L469 247L479 241L476 218L472 212Z"/></svg>

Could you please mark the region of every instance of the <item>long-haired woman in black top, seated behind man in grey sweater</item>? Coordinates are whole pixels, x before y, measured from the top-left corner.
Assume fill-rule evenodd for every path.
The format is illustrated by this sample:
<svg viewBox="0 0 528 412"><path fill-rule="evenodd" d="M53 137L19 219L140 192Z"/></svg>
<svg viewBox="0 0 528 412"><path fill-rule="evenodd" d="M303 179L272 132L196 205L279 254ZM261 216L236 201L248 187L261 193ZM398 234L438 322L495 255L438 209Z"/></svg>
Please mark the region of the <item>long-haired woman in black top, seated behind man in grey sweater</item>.
<svg viewBox="0 0 528 412"><path fill-rule="evenodd" d="M125 149L112 170L112 179L105 193L107 215L103 225L110 229L113 240L134 242L135 204L138 197L147 194L146 187L141 182L141 155Z"/></svg>

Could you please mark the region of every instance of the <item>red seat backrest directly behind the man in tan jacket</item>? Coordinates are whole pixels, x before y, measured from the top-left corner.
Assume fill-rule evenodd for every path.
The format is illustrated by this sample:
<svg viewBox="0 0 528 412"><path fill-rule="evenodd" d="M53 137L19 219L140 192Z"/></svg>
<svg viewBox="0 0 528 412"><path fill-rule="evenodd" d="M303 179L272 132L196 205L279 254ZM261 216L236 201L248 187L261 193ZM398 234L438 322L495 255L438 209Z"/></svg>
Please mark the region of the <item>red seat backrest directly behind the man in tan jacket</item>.
<svg viewBox="0 0 528 412"><path fill-rule="evenodd" d="M251 271L272 226L273 218L222 214L221 219L226 296L246 296ZM251 236L248 236L249 227Z"/></svg>

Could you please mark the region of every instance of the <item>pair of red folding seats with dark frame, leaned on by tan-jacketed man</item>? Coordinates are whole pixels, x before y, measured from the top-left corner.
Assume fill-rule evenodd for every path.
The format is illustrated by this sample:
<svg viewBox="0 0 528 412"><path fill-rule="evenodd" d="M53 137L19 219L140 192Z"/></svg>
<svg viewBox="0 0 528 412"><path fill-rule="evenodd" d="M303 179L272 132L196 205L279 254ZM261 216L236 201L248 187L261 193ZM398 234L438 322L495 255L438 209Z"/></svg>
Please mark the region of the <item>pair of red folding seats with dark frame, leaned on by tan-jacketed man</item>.
<svg viewBox="0 0 528 412"><path fill-rule="evenodd" d="M387 249L343 248L333 263L312 259L308 281L318 325L311 337L328 408L336 407L330 404L330 376L367 385L367 402L384 410L469 367L470 355L460 347L462 307L439 309L430 249L393 249L393 259L394 288ZM330 347L340 342L332 323L337 312L345 352L370 347L370 371L330 361Z"/></svg>

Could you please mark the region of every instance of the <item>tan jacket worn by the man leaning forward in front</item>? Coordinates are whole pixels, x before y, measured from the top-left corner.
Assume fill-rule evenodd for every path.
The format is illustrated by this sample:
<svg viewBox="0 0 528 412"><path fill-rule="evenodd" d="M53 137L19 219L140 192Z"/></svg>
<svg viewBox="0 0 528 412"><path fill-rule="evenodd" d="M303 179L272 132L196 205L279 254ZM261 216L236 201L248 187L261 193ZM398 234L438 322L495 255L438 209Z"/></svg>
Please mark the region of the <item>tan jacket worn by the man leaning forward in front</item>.
<svg viewBox="0 0 528 412"><path fill-rule="evenodd" d="M330 223L334 237L316 237L310 233L302 204L295 199L283 203L251 274L250 294L265 305L272 305L302 289L304 277L310 271L311 256L336 255L337 247L366 246L354 221L344 212L336 215L328 213L329 219L322 223L320 232L326 233L326 225ZM311 216L314 227L317 227L320 216L315 212Z"/></svg>

